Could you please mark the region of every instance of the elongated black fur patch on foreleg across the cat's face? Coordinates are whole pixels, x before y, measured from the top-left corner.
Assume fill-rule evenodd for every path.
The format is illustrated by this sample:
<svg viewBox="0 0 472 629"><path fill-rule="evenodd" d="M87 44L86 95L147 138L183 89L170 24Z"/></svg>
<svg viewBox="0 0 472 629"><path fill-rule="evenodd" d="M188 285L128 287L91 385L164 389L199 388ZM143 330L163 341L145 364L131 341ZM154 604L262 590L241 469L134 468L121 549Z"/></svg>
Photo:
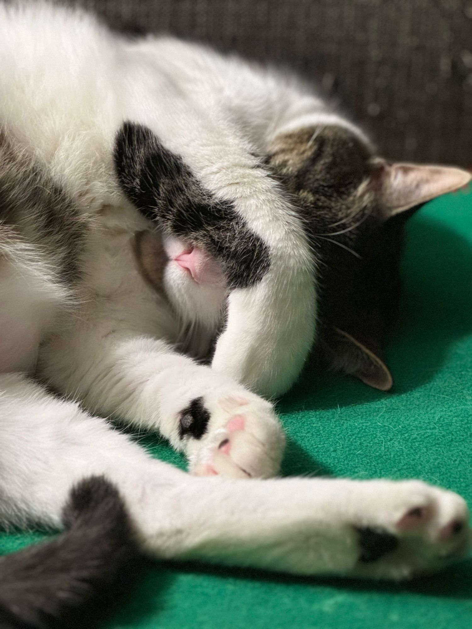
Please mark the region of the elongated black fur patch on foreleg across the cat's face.
<svg viewBox="0 0 472 629"><path fill-rule="evenodd" d="M115 138L115 168L123 191L161 228L220 260L230 289L254 286L270 268L266 243L231 201L215 199L181 157L147 127L126 122Z"/></svg>

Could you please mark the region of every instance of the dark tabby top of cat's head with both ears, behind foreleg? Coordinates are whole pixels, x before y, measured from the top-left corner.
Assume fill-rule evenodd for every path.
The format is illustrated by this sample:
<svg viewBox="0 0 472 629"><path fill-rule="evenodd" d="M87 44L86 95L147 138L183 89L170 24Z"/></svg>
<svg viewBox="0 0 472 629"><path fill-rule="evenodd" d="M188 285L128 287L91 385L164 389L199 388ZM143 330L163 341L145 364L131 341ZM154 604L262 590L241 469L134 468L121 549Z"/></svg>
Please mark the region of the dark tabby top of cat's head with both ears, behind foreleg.
<svg viewBox="0 0 472 629"><path fill-rule="evenodd" d="M390 389L386 334L400 301L405 220L464 186L464 170L391 164L339 126L279 135L266 165L299 209L318 261L315 356L331 369Z"/></svg>

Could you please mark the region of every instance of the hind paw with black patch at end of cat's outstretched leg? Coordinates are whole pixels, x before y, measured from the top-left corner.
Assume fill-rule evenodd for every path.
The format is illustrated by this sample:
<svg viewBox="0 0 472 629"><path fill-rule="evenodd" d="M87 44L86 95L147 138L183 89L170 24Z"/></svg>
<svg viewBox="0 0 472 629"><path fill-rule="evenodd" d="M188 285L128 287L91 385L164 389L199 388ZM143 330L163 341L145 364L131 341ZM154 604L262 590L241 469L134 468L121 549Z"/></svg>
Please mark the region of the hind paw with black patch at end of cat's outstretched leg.
<svg viewBox="0 0 472 629"><path fill-rule="evenodd" d="M471 532L463 498L420 481L369 485L355 526L361 548L357 575L403 579L466 554Z"/></svg>

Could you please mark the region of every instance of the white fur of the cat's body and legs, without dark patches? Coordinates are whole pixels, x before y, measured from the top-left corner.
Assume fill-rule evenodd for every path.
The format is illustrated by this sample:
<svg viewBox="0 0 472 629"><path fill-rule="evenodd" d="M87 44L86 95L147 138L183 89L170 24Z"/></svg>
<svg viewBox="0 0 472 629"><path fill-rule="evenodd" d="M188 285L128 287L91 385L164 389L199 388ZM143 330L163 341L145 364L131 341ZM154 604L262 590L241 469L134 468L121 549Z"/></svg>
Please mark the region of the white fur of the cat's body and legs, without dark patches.
<svg viewBox="0 0 472 629"><path fill-rule="evenodd" d="M48 384L91 411L158 430L185 450L195 474L208 466L220 476L276 474L281 428L271 404L249 389L273 395L294 381L313 340L315 282L305 234L251 153L307 120L349 123L291 79L171 38L128 42L86 14L42 3L0 7L0 66L1 123L92 217L73 311L62 308L69 296L57 294L46 272L28 266L21 274L21 265L1 261L0 347L4 330L15 339L3 370L25 370L39 350L38 374ZM176 352L191 304L176 313L135 266L130 240L149 225L123 197L112 161L116 130L128 119L152 128L204 186L231 199L270 247L263 281L229 296L211 367ZM171 265L166 273L169 290L188 294L188 274ZM208 308L206 323L214 315ZM50 325L58 317L60 325ZM161 557L400 578L441 565L466 542L466 530L441 541L451 521L466 517L462 499L419 482L193 477L20 374L0 376L0 391L6 522L59 527L70 487L105 474L123 494L143 547ZM181 440L179 413L200 396L211 415L208 433ZM232 430L240 418L244 430ZM218 448L224 440L228 456ZM403 536L398 523L417 506L430 515ZM398 534L400 550L359 567L354 526Z"/></svg>

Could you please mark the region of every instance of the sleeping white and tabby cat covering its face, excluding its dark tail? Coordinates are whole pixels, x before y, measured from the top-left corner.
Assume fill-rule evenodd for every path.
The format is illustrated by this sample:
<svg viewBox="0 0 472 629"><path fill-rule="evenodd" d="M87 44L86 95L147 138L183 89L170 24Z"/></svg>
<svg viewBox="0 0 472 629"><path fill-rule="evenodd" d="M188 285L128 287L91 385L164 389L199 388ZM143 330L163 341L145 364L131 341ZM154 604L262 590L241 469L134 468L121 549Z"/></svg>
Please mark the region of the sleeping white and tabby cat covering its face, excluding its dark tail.
<svg viewBox="0 0 472 629"><path fill-rule="evenodd" d="M315 339L391 386L403 222L469 175L376 157L291 77L76 10L1 6L0 62L1 520L60 529L94 475L157 557L401 579L463 555L449 491L271 479L264 398Z"/></svg>

